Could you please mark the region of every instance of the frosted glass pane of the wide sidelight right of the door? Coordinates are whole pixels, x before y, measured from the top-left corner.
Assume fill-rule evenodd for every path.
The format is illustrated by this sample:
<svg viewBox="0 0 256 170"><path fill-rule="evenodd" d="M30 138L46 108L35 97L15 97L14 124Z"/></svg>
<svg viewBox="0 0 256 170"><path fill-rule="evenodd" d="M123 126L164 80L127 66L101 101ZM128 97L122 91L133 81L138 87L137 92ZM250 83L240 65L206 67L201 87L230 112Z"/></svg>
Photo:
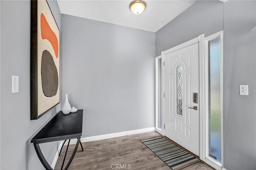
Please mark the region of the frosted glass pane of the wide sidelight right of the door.
<svg viewBox="0 0 256 170"><path fill-rule="evenodd" d="M220 37L208 41L209 56L209 156L221 162Z"/></svg>

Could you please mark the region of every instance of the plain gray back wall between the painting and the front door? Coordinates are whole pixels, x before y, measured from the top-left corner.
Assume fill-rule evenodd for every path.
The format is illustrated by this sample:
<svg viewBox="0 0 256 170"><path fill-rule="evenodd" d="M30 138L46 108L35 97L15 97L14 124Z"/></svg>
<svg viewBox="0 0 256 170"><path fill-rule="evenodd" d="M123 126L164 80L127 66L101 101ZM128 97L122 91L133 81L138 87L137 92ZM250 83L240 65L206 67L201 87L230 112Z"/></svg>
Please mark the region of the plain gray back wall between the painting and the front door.
<svg viewBox="0 0 256 170"><path fill-rule="evenodd" d="M82 137L154 127L155 33L61 17L61 106L84 109Z"/></svg>

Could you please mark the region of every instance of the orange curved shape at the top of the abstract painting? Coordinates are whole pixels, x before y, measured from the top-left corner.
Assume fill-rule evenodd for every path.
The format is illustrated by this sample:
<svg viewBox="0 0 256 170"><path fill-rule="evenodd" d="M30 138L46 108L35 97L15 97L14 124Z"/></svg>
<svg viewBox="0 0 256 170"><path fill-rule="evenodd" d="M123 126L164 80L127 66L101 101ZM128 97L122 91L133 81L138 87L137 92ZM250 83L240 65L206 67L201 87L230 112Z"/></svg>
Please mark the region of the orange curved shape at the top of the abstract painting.
<svg viewBox="0 0 256 170"><path fill-rule="evenodd" d="M48 41L50 41L54 49L56 58L58 59L58 53L59 53L58 39L55 33L52 31L50 25L48 24L44 14L41 14L41 35L42 35L42 39L47 39Z"/></svg>

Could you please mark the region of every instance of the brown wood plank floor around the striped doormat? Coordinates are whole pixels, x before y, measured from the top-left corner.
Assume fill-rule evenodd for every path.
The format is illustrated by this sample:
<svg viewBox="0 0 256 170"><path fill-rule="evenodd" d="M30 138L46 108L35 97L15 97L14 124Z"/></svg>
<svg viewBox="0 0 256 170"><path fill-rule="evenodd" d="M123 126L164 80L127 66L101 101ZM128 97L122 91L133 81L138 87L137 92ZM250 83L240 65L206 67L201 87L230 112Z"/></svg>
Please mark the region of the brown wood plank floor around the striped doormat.
<svg viewBox="0 0 256 170"><path fill-rule="evenodd" d="M170 170L170 168L158 158L150 149L143 145L140 140L161 136L157 132L140 133L136 135L116 137L99 141L82 143L70 164L69 170L111 170L117 169L112 164L126 165L130 170ZM65 165L68 162L75 145L70 145L66 156ZM55 170L60 170L64 158L66 146L58 158ZM125 167L118 167L124 169ZM192 164L183 170L214 170L204 162Z"/></svg>

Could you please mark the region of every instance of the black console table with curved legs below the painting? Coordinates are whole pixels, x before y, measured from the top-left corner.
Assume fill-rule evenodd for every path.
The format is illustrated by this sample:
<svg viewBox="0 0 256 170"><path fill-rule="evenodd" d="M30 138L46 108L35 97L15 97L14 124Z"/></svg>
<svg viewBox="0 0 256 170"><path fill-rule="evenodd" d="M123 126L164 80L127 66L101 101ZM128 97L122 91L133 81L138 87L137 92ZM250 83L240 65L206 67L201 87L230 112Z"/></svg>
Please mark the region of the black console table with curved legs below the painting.
<svg viewBox="0 0 256 170"><path fill-rule="evenodd" d="M68 115L64 115L62 111L59 111L37 134L36 136L31 139L31 143L34 143L34 147L36 149L36 153L38 158L42 162L44 168L46 170L52 170L52 167L48 164L42 151L39 147L39 143L46 143L46 142L53 142L53 141L60 141L60 140L67 140L68 146L70 143L70 139L77 138L76 147L68 161L64 170L67 170L70 166L80 143L80 138L82 136L82 124L83 124L83 110L80 109L76 113L70 113ZM82 144L80 143L81 147ZM66 153L68 151L68 146L66 149ZM63 147L63 146L62 146ZM83 150L83 148L82 148ZM66 158L66 154L64 156L64 160L62 163L62 167L64 165L64 161Z"/></svg>

